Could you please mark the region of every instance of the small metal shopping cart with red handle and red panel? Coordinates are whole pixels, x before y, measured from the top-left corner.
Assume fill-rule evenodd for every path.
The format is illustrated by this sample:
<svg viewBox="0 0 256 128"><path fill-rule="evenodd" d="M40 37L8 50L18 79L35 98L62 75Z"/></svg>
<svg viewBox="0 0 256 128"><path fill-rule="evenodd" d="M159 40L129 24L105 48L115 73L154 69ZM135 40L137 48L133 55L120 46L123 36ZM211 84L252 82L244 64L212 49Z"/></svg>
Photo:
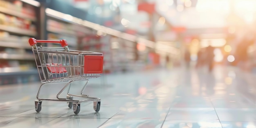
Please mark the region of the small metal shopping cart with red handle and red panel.
<svg viewBox="0 0 256 128"><path fill-rule="evenodd" d="M62 47L43 47L37 43L59 43ZM103 54L99 52L86 52L70 50L66 40L36 40L29 38L29 44L35 56L37 69L42 82L35 100L36 112L40 112L42 101L64 101L68 107L74 110L75 114L80 112L80 103L94 101L93 108L99 112L101 99L89 97L83 94L88 79L97 78L103 72ZM85 84L81 94L70 94L70 86L74 81L83 81ZM39 98L40 90L45 84L65 83L64 87L56 95L56 99ZM67 88L67 97L59 95ZM80 97L82 100L74 100L73 97Z"/></svg>

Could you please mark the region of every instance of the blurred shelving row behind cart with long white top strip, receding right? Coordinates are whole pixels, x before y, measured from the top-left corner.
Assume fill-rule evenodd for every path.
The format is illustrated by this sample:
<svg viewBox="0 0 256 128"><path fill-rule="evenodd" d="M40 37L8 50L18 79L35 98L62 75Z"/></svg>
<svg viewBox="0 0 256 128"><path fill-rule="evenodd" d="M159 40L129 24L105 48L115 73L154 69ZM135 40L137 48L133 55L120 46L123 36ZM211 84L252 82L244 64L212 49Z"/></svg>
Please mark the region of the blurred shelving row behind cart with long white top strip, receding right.
<svg viewBox="0 0 256 128"><path fill-rule="evenodd" d="M154 42L144 38L49 8L45 9L45 12L47 15L47 39L66 39L68 44L72 43L71 46L76 46L71 49L103 52L105 73L136 70L138 66L145 67L150 49L155 48ZM72 38L69 40L69 37Z"/></svg>

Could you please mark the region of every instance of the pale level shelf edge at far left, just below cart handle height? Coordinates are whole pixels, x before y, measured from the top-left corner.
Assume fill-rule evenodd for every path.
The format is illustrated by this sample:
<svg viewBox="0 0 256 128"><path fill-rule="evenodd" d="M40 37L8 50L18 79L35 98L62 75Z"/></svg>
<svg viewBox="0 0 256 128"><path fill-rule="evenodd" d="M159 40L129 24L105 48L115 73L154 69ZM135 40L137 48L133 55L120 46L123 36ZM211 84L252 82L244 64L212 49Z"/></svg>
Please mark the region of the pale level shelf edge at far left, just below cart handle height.
<svg viewBox="0 0 256 128"><path fill-rule="evenodd" d="M1 53L0 59L9 59L9 60L34 60L34 55L32 54L7 54Z"/></svg>

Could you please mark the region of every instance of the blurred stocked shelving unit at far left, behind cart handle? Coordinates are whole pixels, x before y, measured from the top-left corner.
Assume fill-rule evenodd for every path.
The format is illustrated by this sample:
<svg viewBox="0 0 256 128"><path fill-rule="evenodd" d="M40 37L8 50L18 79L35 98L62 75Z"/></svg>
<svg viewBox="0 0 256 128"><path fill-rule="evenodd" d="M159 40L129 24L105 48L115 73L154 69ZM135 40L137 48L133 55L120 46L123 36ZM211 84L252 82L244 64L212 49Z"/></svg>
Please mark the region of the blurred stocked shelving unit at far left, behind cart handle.
<svg viewBox="0 0 256 128"><path fill-rule="evenodd" d="M0 85L38 81L28 43L40 33L36 16L40 3L35 3L0 0Z"/></svg>

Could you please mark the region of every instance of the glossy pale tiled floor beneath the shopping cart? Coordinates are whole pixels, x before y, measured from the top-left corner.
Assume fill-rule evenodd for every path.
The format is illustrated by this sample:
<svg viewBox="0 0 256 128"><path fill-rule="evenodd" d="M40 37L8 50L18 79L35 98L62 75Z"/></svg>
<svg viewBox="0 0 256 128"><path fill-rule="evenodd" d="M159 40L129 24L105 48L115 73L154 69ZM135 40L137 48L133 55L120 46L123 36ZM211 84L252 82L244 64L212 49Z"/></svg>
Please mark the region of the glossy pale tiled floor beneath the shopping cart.
<svg viewBox="0 0 256 128"><path fill-rule="evenodd" d="M1 86L0 127L256 128L255 81L254 74L234 67L108 74L90 79L85 90L101 98L100 111L86 102L78 115L65 102L53 101L43 101L36 112L40 83ZM81 85L70 91L79 93ZM54 98L61 87L47 85L40 97Z"/></svg>

